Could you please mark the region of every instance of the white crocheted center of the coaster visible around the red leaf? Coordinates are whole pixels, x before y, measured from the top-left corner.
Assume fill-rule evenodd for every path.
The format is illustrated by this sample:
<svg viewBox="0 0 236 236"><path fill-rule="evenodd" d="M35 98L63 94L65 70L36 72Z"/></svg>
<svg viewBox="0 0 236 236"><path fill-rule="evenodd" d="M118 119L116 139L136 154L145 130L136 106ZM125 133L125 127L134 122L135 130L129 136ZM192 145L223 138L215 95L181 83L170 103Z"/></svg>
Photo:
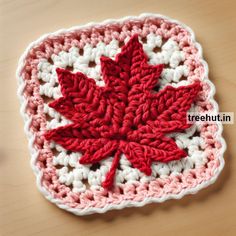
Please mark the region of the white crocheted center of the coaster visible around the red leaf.
<svg viewBox="0 0 236 236"><path fill-rule="evenodd" d="M126 38L125 43L129 40ZM149 58L150 64L165 64L159 80L160 89L169 84L174 87L187 85L189 68L184 65L185 54L178 44L169 39L162 42L162 38L155 34L149 34L143 40L143 48ZM111 41L108 45L99 42L96 47L87 44L83 51L71 47L68 52L61 51L58 55L52 55L50 60L41 59L38 64L38 78L40 80L40 94L46 98L44 112L47 114L47 129L53 129L70 123L61 114L50 108L46 101L61 97L60 87L57 81L55 69L57 67L71 69L73 72L83 72L93 78L97 85L104 86L100 75L100 57L105 55L115 58L120 52L119 42ZM185 79L183 79L185 78ZM193 107L192 110L196 109ZM185 149L188 156L180 161L172 161L168 164L155 162L152 164L152 176L147 177L138 169L132 168L129 161L122 155L120 166L116 170L116 185L122 183L147 182L155 178L165 178L169 175L179 174L189 169L204 166L207 163L207 154L204 152L204 139L200 136L200 128L193 125L184 133L176 133L171 136L177 145ZM101 182L105 179L110 169L112 157L95 165L81 165L80 153L71 153L60 145L51 143L54 152L53 165L57 168L57 175L62 184L70 186L73 192L83 192L87 188L101 188Z"/></svg>

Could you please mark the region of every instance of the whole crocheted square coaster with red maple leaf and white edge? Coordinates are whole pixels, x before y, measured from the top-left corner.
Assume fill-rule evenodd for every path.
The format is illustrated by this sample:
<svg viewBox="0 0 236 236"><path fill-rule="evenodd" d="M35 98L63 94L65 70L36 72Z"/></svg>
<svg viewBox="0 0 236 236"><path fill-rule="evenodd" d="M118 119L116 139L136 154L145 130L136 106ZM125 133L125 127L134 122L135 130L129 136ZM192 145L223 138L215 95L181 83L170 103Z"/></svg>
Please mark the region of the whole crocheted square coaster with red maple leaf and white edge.
<svg viewBox="0 0 236 236"><path fill-rule="evenodd" d="M47 199L77 215L193 194L224 166L222 125L191 29L154 14L31 43L17 71L31 165Z"/></svg>

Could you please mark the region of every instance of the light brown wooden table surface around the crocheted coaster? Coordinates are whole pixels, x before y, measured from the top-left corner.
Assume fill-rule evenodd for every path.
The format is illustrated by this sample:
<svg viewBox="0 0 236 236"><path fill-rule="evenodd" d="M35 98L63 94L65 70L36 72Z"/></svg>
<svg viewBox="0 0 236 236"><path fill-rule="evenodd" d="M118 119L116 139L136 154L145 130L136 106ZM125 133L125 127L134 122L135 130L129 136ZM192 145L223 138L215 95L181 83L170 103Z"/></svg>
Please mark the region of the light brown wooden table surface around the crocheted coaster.
<svg viewBox="0 0 236 236"><path fill-rule="evenodd" d="M236 2L158 0L0 0L0 235L236 235L236 128L225 125L225 168L197 195L143 208L76 217L35 186L19 114L15 70L26 46L60 28L160 13L189 25L202 44L221 111L235 111Z"/></svg>

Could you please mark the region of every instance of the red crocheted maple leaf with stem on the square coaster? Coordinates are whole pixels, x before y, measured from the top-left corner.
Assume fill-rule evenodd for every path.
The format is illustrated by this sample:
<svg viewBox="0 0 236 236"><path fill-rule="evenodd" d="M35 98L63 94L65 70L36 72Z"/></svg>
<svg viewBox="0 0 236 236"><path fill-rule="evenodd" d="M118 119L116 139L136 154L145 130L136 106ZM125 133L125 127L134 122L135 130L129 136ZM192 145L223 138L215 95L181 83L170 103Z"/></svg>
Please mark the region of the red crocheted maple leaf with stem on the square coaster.
<svg viewBox="0 0 236 236"><path fill-rule="evenodd" d="M122 153L134 168L151 175L152 162L169 162L186 157L184 150L165 134L189 128L186 112L201 86L195 82L174 88L153 89L163 65L149 65L138 36L122 47L115 60L101 57L104 87L77 72L57 69L62 97L50 107L73 123L46 132L65 149L82 152L81 164L114 156L102 183L113 185Z"/></svg>

